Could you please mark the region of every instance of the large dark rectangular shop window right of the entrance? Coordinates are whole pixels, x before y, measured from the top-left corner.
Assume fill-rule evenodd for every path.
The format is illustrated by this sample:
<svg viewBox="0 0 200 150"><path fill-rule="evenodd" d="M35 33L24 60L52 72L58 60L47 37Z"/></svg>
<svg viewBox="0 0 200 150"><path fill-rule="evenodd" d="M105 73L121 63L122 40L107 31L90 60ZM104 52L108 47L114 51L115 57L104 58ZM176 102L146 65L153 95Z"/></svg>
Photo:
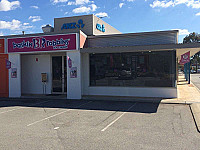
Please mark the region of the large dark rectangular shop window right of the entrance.
<svg viewBox="0 0 200 150"><path fill-rule="evenodd" d="M90 54L90 86L174 87L175 51Z"/></svg>

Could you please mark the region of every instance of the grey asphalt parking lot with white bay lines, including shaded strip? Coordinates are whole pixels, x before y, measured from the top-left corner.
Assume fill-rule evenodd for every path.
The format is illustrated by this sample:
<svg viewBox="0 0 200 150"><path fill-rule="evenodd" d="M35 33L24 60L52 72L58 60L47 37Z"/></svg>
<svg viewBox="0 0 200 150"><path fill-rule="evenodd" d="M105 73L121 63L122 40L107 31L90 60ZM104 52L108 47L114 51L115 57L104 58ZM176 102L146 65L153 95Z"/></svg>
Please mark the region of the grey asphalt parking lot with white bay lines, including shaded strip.
<svg viewBox="0 0 200 150"><path fill-rule="evenodd" d="M199 149L188 105L1 100L0 149Z"/></svg>

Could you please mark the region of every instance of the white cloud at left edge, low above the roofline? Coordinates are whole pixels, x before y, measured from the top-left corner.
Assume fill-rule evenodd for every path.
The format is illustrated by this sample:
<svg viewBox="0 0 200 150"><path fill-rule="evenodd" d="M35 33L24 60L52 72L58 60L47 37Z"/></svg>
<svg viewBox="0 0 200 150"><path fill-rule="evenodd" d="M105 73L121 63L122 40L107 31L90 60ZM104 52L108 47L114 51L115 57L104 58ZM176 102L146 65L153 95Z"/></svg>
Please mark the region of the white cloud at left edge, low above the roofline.
<svg viewBox="0 0 200 150"><path fill-rule="evenodd" d="M0 29L10 29L10 30L25 30L32 28L33 26L28 26L29 24L22 24L21 21L13 19L9 21L0 21Z"/></svg>

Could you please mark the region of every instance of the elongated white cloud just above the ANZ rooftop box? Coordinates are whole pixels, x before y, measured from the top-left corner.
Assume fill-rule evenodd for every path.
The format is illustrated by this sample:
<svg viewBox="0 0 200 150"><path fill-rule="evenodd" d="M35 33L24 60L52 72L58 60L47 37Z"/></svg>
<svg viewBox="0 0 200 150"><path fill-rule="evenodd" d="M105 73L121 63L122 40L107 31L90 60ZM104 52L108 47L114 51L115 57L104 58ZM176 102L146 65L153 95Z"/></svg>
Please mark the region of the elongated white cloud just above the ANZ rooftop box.
<svg viewBox="0 0 200 150"><path fill-rule="evenodd" d="M90 13L96 11L97 6L95 4L91 4L88 7L86 6L81 6L78 8L75 8L72 10L73 13L78 14L78 13Z"/></svg>

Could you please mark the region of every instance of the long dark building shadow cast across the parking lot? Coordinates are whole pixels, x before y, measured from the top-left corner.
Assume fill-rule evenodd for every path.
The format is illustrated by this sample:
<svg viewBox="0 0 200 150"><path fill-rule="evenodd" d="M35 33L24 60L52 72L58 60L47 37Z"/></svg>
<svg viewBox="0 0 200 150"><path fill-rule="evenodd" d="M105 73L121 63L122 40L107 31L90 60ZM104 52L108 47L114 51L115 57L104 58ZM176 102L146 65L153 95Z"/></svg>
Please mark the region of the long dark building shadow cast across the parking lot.
<svg viewBox="0 0 200 150"><path fill-rule="evenodd" d="M0 99L2 107L38 107L38 108L62 108L79 110L121 111L137 113L156 113L159 107L156 103L140 103L129 101L109 100L47 100L47 99ZM0 110L1 113L1 110Z"/></svg>

